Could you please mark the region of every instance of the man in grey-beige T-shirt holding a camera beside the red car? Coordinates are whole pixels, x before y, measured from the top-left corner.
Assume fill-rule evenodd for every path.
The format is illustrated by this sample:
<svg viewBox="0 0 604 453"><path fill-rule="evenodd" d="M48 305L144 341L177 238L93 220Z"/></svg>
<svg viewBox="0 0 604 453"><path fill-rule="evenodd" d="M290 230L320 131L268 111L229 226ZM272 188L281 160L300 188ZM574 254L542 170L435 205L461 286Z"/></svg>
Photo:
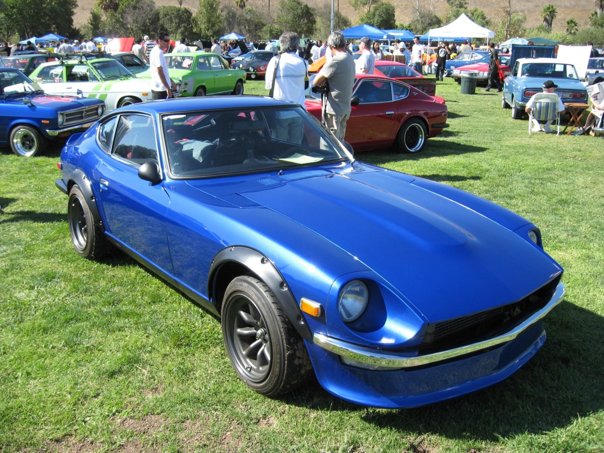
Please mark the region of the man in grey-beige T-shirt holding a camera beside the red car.
<svg viewBox="0 0 604 453"><path fill-rule="evenodd" d="M338 140L344 140L346 121L350 117L350 99L355 83L355 59L346 51L346 39L339 31L327 38L332 57L316 75L314 85L324 87L323 122ZM316 92L316 88L315 92Z"/></svg>

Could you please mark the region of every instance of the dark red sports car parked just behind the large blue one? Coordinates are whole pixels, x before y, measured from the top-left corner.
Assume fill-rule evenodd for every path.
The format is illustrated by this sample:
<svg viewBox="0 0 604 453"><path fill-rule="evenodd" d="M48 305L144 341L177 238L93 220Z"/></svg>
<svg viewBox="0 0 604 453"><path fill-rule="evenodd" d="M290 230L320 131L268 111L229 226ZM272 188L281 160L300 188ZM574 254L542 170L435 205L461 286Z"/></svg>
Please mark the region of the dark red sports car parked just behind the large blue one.
<svg viewBox="0 0 604 453"><path fill-rule="evenodd" d="M306 109L321 119L320 98L306 97ZM449 126L446 121L445 103L416 87L375 74L356 74L345 140L355 151L396 146L400 152L417 153L428 138Z"/></svg>

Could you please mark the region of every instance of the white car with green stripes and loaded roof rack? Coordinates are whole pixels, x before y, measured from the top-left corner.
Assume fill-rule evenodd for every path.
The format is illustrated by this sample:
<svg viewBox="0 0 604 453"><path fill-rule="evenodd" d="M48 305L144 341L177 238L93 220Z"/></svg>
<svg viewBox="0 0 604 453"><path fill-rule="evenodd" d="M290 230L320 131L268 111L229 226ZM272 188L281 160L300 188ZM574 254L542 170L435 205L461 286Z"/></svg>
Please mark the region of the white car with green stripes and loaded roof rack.
<svg viewBox="0 0 604 453"><path fill-rule="evenodd" d="M152 98L150 80L137 79L111 58L44 63L31 73L48 94L83 95L104 101L107 111Z"/></svg>

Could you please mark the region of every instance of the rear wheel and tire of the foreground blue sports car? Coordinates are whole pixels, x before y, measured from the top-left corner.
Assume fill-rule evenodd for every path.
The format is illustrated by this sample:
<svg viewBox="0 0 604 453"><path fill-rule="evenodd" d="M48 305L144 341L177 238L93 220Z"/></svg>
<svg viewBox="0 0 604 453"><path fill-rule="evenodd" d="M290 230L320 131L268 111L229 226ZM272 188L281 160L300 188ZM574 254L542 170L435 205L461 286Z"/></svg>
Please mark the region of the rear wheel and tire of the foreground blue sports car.
<svg viewBox="0 0 604 453"><path fill-rule="evenodd" d="M111 250L111 243L98 228L86 197L78 185L74 185L69 191L67 222L71 242L78 254L89 260L98 260Z"/></svg>

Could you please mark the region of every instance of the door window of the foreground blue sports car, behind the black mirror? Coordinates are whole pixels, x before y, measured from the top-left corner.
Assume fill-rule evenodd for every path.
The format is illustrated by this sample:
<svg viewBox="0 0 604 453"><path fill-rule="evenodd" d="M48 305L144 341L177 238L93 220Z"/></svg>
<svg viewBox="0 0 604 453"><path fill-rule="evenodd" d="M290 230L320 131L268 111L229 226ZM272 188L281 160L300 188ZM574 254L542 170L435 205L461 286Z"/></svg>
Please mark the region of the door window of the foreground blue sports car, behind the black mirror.
<svg viewBox="0 0 604 453"><path fill-rule="evenodd" d="M112 154L138 166L158 160L155 127L146 115L120 115L115 130Z"/></svg>

